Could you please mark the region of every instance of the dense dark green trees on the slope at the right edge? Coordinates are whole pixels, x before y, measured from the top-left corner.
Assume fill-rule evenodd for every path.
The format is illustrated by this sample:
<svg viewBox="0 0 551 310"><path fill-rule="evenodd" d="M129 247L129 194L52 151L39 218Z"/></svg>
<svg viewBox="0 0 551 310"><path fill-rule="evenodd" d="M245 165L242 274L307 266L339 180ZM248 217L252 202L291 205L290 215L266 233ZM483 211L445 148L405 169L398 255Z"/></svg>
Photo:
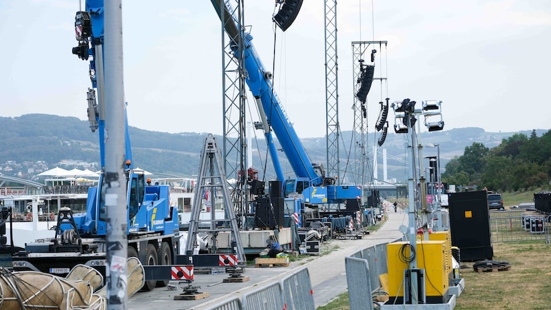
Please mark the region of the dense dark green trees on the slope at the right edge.
<svg viewBox="0 0 551 310"><path fill-rule="evenodd" d="M499 192L550 188L551 130L540 137L513 134L491 149L482 143L465 147L462 156L446 164L441 176L448 184Z"/></svg>

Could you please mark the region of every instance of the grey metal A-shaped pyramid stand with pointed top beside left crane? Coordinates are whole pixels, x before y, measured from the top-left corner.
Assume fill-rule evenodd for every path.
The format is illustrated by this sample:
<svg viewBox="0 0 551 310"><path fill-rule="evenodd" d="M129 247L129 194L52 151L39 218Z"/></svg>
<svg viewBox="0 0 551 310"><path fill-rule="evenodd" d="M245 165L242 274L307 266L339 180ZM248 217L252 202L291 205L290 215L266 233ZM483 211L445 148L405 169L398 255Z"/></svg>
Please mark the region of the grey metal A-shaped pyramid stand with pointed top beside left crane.
<svg viewBox="0 0 551 310"><path fill-rule="evenodd" d="M245 250L243 249L241 236L239 234L236 213L233 209L233 203L231 203L231 195L222 163L222 152L218 147L216 138L214 138L212 134L209 134L209 136L205 138L205 148L201 152L201 163L194 202L193 205L191 205L191 218L189 220L185 254L191 256L193 253L198 232L208 232L211 235L209 254L220 253L216 244L216 236L221 231L231 231L231 254L237 256L238 265L245 266L247 265L247 258L245 258ZM201 200L205 192L209 192L209 200L211 201L211 216L209 220L200 219ZM222 194L225 210L224 219L216 219L215 214L215 201L219 193ZM200 228L200 223L205 222L210 223L210 228ZM217 223L220 222L224 223L224 225L217 227ZM224 253L227 254L227 252ZM204 255L207 256L209 254ZM195 255L194 257L196 258L194 260L200 258L201 255L202 254Z"/></svg>

